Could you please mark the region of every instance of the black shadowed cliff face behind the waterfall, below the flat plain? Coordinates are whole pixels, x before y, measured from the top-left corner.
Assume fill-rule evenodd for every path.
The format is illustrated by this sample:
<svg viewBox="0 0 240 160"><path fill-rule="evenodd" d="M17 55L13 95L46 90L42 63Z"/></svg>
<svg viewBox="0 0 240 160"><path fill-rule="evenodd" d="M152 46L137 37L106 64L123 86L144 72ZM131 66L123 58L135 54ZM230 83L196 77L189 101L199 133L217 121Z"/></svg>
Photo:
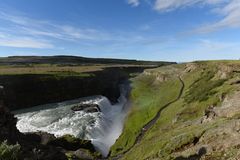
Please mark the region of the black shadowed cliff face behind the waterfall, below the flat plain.
<svg viewBox="0 0 240 160"><path fill-rule="evenodd" d="M94 76L4 75L0 76L0 85L5 87L10 110L92 95L103 95L111 102L117 102L120 96L118 85L128 74L119 68L91 74Z"/></svg>

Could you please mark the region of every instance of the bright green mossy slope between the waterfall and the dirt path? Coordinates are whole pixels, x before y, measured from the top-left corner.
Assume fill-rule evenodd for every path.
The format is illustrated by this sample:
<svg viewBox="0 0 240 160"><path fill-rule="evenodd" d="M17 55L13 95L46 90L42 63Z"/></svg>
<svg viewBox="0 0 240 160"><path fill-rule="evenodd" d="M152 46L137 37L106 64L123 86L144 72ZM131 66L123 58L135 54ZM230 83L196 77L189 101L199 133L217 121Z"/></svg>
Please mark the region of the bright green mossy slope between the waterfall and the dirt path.
<svg viewBox="0 0 240 160"><path fill-rule="evenodd" d="M167 68L169 70L170 68L172 69L172 67ZM150 70L150 72L152 72L152 70ZM132 80L133 90L130 98L132 101L132 109L127 117L126 122L128 123L124 126L123 134L111 148L111 156L123 153L133 146L142 127L148 123L162 107L176 99L179 95L181 83L177 76L178 74L173 74L175 76L164 82L156 80L157 75L158 74L142 74ZM164 74L164 76L168 77L169 75ZM162 99L165 101L162 101Z"/></svg>

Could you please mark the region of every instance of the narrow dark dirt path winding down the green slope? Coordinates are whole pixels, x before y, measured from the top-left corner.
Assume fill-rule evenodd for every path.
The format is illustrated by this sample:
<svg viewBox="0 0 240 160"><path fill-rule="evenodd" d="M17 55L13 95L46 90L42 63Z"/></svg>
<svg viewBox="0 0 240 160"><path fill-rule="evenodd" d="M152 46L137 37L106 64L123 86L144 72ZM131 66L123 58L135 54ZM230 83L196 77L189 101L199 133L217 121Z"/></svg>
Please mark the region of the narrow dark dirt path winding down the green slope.
<svg viewBox="0 0 240 160"><path fill-rule="evenodd" d="M181 79L181 77L178 77L178 78L179 78L179 80L180 80L180 82L181 82L181 84L182 84L178 97L177 97L176 99L172 100L171 102L167 103L166 105L164 105L164 106L158 111L158 113L155 115L155 117L154 117L151 121L149 121L147 124L145 124L145 125L143 126L143 128L142 128L141 132L139 133L139 135L137 136L134 144L133 144L128 150L126 150L125 152L123 152L123 153L121 153L121 154L119 154L119 155L117 155L117 156L115 156L115 157L109 157L110 159L112 159L112 160L120 159L124 154L126 154L127 152L129 152L136 144L140 143L141 140L142 140L142 138L143 138L143 136L144 136L144 134L145 134L145 133L156 123L156 121L160 118L161 112L162 112L164 109L166 109L168 106L170 106L171 104L177 102L177 101L181 98L182 93L183 93L183 90L184 90L184 88L185 88L185 84L184 84L183 80Z"/></svg>

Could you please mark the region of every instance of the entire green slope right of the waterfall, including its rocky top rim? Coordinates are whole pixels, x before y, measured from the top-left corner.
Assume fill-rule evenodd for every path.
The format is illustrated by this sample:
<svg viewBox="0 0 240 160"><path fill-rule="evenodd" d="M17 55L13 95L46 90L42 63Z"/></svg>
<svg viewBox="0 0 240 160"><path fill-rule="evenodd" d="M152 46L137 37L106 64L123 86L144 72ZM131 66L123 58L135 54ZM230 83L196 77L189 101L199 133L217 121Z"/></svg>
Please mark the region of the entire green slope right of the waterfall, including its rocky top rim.
<svg viewBox="0 0 240 160"><path fill-rule="evenodd" d="M239 61L196 62L148 70L134 79L133 105L123 134L111 149L111 156L121 155L129 149L120 156L122 159L167 160L201 156L195 151L195 146L200 146L199 139L207 137L220 124L232 120L216 116L214 120L203 122L211 106L219 107L224 97L240 88L239 68ZM133 146L142 126L177 96L180 87L178 76L185 84L181 98L166 107L141 142ZM208 145L210 142L205 143ZM215 152L209 155L213 158Z"/></svg>

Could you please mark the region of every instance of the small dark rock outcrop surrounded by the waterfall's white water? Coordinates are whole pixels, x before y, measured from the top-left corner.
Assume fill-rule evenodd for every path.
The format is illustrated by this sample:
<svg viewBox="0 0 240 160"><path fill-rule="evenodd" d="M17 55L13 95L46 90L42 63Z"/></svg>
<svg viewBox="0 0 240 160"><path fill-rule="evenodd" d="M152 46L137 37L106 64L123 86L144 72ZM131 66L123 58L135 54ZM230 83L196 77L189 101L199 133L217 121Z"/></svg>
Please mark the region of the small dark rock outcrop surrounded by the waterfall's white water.
<svg viewBox="0 0 240 160"><path fill-rule="evenodd" d="M73 110L73 111L85 111L85 112L89 112L89 113L101 112L101 109L97 104L84 104L84 103L73 106L71 108L71 110Z"/></svg>

